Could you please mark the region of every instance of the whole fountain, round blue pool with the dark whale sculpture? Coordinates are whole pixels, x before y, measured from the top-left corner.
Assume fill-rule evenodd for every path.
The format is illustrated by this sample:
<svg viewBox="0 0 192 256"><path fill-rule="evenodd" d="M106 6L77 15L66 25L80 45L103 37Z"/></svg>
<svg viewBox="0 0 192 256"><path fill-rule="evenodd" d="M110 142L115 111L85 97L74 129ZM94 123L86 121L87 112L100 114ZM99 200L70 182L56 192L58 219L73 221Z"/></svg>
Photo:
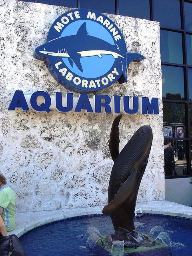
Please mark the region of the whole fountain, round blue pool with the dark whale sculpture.
<svg viewBox="0 0 192 256"><path fill-rule="evenodd" d="M110 217L101 215L99 209L93 216L83 212L31 230L21 238L28 256L191 255L191 219L144 214L138 221L134 217L136 197L152 144L152 130L148 125L139 128L119 153L120 118L121 115L114 119L110 134L114 166L108 205L103 208Z"/></svg>

